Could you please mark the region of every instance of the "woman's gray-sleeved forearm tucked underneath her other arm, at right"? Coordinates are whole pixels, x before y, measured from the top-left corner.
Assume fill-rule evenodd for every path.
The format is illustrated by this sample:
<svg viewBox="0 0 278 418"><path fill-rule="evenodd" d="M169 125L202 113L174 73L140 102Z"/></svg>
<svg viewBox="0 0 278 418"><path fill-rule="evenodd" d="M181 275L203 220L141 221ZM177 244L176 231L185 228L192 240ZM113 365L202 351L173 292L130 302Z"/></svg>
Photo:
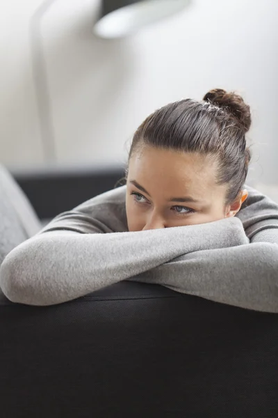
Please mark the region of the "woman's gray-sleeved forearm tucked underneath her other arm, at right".
<svg viewBox="0 0 278 418"><path fill-rule="evenodd" d="M278 313L278 244L256 242L196 251L134 280L236 307Z"/></svg>

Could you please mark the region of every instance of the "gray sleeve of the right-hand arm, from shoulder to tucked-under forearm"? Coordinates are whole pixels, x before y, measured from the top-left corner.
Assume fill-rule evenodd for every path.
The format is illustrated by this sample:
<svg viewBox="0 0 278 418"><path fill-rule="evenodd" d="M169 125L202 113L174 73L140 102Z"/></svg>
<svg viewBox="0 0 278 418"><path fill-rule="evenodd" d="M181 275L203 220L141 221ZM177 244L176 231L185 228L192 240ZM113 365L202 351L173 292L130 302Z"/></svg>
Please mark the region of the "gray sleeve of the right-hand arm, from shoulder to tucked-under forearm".
<svg viewBox="0 0 278 418"><path fill-rule="evenodd" d="M249 245L184 254L134 280L278 313L278 205L256 189L245 188L249 195L236 217L243 222Z"/></svg>

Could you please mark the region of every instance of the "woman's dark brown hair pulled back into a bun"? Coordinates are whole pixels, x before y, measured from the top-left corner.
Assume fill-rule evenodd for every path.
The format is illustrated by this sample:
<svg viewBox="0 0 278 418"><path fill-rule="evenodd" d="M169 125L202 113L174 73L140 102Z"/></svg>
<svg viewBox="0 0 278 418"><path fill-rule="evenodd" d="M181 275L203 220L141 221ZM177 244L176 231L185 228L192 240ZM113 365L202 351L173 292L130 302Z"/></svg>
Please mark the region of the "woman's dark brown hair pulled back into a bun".
<svg viewBox="0 0 278 418"><path fill-rule="evenodd" d="M245 134L250 129L250 107L243 98L220 88L203 100L180 100L154 111L136 130L131 155L142 145L200 153L216 160L218 185L228 184L225 204L243 188L251 160Z"/></svg>

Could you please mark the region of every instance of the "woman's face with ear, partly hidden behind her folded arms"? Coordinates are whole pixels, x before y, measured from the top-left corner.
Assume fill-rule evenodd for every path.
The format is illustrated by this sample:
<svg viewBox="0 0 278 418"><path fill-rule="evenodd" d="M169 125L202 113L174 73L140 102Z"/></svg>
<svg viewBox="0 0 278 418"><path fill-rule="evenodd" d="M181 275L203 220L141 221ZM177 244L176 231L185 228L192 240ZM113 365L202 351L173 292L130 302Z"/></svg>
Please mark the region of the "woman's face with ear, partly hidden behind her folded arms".
<svg viewBox="0 0 278 418"><path fill-rule="evenodd" d="M227 185L215 184L215 163L198 153L142 146L129 161L126 217L129 231L206 224L236 215L241 192L224 206Z"/></svg>

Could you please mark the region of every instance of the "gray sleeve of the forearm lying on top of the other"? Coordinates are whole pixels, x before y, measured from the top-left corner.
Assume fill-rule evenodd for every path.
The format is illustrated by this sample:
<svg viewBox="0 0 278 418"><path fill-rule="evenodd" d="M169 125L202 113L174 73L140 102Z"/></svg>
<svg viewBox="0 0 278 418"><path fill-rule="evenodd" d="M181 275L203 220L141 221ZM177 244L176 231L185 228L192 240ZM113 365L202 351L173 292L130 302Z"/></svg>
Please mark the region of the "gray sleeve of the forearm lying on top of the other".
<svg viewBox="0 0 278 418"><path fill-rule="evenodd" d="M82 222L85 227L84 218ZM89 230L91 222L87 223ZM138 232L80 233L58 229L35 235L13 249L1 265L0 285L13 302L58 304L184 254L224 248L225 258L229 258L230 247L247 243L243 224L236 218ZM214 272L213 254L206 262L206 268ZM197 263L202 265L201 261ZM220 274L225 274L224 266Z"/></svg>

